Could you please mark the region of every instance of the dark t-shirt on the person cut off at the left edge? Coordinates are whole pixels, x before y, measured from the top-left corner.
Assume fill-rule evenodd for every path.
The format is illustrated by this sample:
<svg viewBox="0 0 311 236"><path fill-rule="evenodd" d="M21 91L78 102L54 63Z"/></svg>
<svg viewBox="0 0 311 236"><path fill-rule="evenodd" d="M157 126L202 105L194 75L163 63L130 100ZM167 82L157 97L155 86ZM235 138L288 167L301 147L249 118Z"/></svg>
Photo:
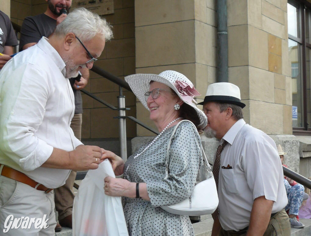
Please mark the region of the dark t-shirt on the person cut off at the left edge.
<svg viewBox="0 0 311 236"><path fill-rule="evenodd" d="M0 11L0 53L4 51L4 46L16 45L18 45L18 41L10 18Z"/></svg>

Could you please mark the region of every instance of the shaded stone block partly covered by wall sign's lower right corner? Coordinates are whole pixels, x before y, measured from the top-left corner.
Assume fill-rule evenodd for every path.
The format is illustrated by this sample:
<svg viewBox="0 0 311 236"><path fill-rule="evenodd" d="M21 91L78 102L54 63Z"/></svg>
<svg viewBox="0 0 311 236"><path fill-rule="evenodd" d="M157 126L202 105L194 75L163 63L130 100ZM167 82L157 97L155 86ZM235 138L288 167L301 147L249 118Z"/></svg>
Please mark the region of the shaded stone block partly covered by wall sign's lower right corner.
<svg viewBox="0 0 311 236"><path fill-rule="evenodd" d="M114 14L105 15L104 18L111 25L133 23L135 22L134 7L114 9Z"/></svg>

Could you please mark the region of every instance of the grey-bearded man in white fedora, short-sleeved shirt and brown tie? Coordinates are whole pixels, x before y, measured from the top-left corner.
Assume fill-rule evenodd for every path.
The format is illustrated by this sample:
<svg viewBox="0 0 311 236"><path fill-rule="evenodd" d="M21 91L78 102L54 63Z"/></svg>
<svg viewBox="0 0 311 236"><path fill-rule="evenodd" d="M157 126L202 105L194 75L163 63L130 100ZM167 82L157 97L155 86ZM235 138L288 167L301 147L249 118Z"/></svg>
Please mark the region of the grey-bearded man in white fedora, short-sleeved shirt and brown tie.
<svg viewBox="0 0 311 236"><path fill-rule="evenodd" d="M207 137L219 141L213 164L219 205L212 236L290 235L287 197L275 142L243 119L238 86L214 83L202 103ZM207 199L208 201L208 199Z"/></svg>

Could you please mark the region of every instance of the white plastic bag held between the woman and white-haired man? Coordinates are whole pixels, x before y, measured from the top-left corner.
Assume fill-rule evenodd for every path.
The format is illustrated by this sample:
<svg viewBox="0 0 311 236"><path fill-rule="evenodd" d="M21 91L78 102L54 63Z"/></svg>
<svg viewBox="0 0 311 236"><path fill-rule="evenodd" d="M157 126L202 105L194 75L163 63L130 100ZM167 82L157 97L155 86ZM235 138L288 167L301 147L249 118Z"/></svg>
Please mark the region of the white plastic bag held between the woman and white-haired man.
<svg viewBox="0 0 311 236"><path fill-rule="evenodd" d="M104 193L104 178L115 178L109 160L89 170L73 201L73 236L128 236L121 197Z"/></svg>

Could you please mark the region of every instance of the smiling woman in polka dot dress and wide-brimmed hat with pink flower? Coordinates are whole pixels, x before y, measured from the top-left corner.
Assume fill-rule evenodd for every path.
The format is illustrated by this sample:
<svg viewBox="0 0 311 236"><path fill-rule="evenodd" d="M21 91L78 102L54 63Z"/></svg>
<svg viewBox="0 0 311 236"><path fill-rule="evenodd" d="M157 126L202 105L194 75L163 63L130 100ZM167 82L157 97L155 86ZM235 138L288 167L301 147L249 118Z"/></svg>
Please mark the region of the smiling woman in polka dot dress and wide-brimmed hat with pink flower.
<svg viewBox="0 0 311 236"><path fill-rule="evenodd" d="M200 95L186 76L175 71L159 75L127 76L136 97L150 111L150 119L160 134L141 146L124 164L114 153L104 150L112 160L116 175L105 178L105 193L122 196L129 235L194 235L188 216L174 215L160 206L172 205L190 197L202 164L200 136L190 122L183 122L172 137L169 149L169 176L165 178L166 152L174 126L183 119L198 130L207 118L193 99Z"/></svg>

